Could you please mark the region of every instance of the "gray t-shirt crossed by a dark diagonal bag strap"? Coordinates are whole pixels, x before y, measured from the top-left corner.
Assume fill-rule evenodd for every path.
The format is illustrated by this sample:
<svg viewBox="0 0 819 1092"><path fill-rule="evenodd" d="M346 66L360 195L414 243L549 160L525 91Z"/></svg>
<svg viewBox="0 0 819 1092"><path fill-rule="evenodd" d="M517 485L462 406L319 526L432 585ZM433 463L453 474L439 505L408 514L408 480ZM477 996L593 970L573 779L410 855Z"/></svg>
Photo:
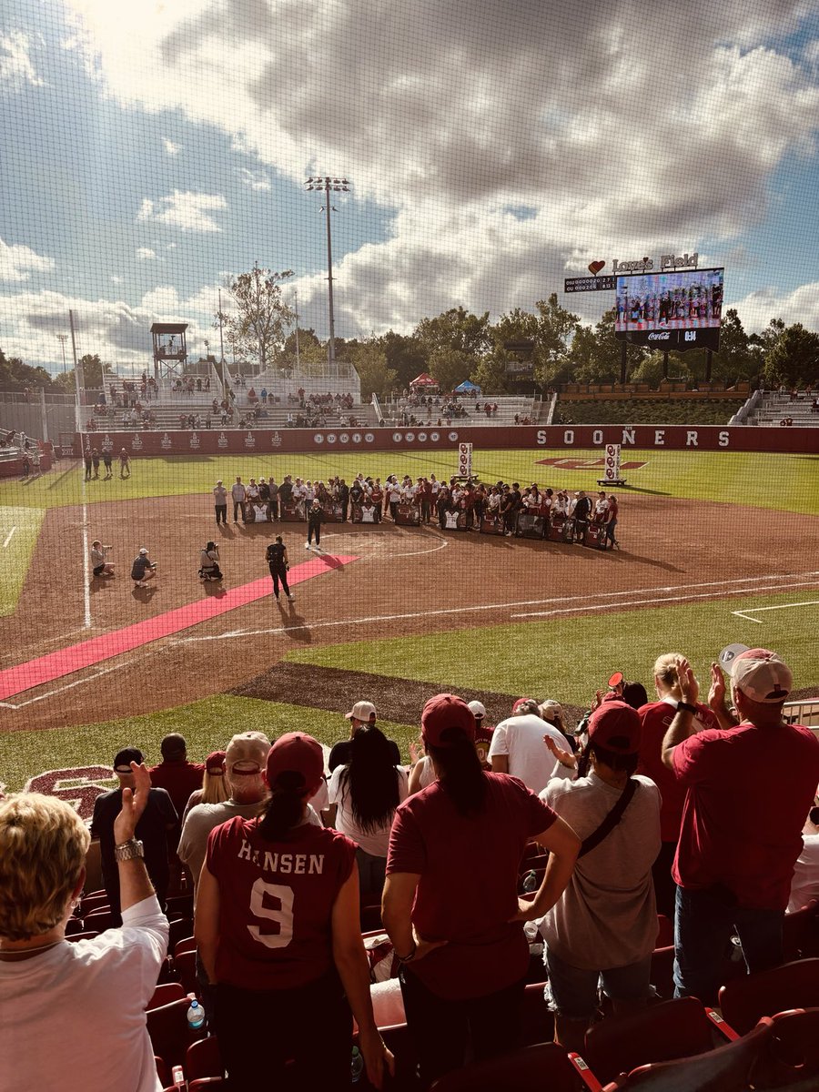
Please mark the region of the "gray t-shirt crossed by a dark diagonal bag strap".
<svg viewBox="0 0 819 1092"><path fill-rule="evenodd" d="M571 966L606 971L649 956L657 937L651 866L660 853L660 790L634 776L637 791L619 823L578 859L555 906L538 923L548 947ZM620 796L595 773L553 780L541 799L582 841L600 827Z"/></svg>

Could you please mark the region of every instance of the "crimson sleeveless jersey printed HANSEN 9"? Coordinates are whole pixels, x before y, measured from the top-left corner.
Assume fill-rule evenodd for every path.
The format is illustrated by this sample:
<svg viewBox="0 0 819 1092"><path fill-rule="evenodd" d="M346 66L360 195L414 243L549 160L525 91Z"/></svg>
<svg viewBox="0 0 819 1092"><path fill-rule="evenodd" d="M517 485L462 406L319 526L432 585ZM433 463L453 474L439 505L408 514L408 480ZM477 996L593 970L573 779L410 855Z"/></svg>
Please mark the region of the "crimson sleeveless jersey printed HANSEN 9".
<svg viewBox="0 0 819 1092"><path fill-rule="evenodd" d="M311 823L268 842L259 823L237 816L207 839L206 864L219 887L216 976L246 989L288 989L332 965L331 914L356 845Z"/></svg>

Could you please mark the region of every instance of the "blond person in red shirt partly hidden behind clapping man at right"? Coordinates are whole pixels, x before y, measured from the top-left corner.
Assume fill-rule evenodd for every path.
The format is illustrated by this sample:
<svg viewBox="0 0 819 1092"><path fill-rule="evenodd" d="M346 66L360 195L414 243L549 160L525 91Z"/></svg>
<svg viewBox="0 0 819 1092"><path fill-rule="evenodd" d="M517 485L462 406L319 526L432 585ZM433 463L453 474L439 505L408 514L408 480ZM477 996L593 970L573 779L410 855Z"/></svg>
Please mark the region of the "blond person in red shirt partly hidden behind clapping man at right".
<svg viewBox="0 0 819 1092"><path fill-rule="evenodd" d="M672 922L677 900L672 866L677 852L686 790L677 781L674 771L663 762L663 739L682 700L682 691L677 679L677 663L681 658L676 652L666 652L657 657L653 669L657 701L648 702L638 710L642 736L637 772L651 778L660 790L662 800L660 805L662 844L653 868L654 891L658 913L665 914ZM691 727L696 733L704 728L719 728L720 723L708 705L697 702Z"/></svg>

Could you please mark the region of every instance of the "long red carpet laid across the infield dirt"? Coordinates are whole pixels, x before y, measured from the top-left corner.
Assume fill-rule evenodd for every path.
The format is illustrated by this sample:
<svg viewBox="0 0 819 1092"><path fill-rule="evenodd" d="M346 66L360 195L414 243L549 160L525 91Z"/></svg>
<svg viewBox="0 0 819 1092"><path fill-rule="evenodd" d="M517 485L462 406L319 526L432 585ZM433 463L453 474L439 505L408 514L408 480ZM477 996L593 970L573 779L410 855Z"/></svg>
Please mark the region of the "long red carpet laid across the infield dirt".
<svg viewBox="0 0 819 1092"><path fill-rule="evenodd" d="M295 587L297 584L320 577L322 573L332 572L333 569L341 569L351 561L357 561L357 557L339 556L324 554L321 557L312 558L301 565L293 566L288 575L288 584ZM111 656L119 656L123 652L130 652L151 641L169 637L171 633L179 633L183 629L190 629L200 622L219 615L244 607L256 600L262 600L272 593L273 585L270 577L262 577L261 580L253 580L249 584L240 587L232 587L224 595L213 595L200 600L197 603L188 603L183 607L176 607L166 614L156 615L153 618L145 618L143 621L126 626L124 629L114 630L110 633L102 633L93 637L88 641L81 641L79 644L71 644L67 649L58 649L57 652L49 652L45 656L29 660L25 664L17 664L15 667L8 667L0 672L0 701L4 698L12 698L15 693L31 690L45 682L71 675L73 672L82 670L84 667L93 667L103 660L110 660Z"/></svg>

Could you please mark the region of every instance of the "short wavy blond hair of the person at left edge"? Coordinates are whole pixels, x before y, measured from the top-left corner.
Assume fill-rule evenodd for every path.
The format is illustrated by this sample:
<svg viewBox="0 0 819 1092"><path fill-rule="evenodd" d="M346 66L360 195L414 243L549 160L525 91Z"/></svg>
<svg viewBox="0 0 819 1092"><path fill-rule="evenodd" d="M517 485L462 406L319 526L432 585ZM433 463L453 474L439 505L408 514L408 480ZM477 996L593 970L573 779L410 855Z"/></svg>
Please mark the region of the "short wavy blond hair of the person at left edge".
<svg viewBox="0 0 819 1092"><path fill-rule="evenodd" d="M66 916L91 834L71 805L20 793L0 803L0 936L28 940Z"/></svg>

